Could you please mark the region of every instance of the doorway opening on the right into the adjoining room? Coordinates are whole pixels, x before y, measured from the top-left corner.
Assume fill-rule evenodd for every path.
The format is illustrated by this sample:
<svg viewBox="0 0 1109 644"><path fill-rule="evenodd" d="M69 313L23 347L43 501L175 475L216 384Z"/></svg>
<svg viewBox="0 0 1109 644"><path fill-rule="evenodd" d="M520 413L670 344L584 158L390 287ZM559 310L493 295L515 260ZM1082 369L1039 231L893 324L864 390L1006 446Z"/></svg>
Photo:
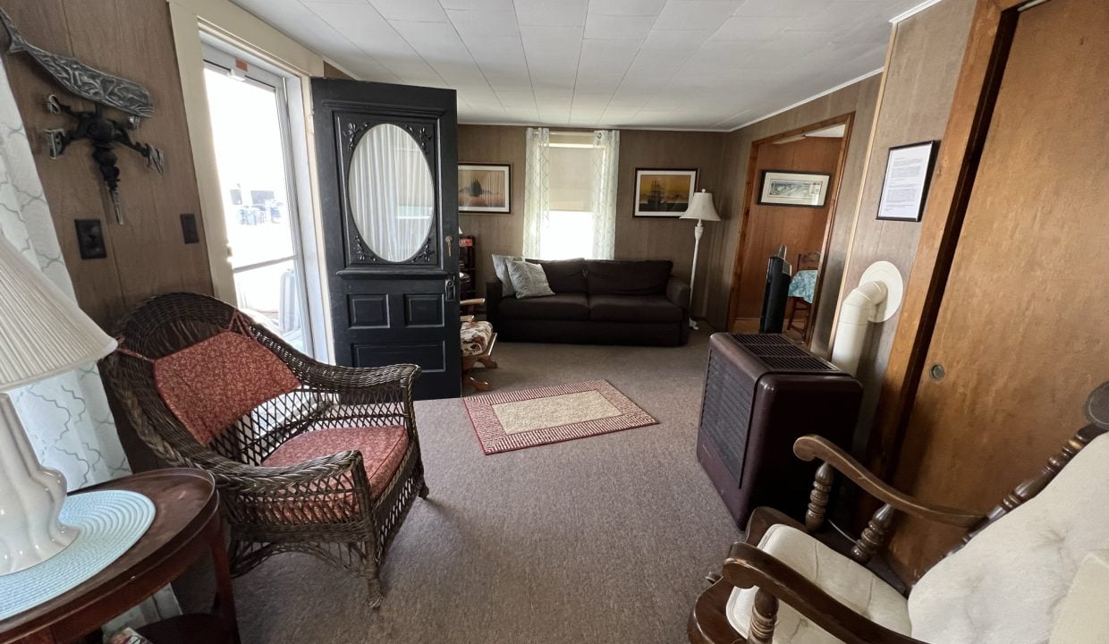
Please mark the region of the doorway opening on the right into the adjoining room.
<svg viewBox="0 0 1109 644"><path fill-rule="evenodd" d="M751 144L729 330L759 330L766 263L784 247L794 279L781 330L812 340L853 121L854 113L843 114Z"/></svg>

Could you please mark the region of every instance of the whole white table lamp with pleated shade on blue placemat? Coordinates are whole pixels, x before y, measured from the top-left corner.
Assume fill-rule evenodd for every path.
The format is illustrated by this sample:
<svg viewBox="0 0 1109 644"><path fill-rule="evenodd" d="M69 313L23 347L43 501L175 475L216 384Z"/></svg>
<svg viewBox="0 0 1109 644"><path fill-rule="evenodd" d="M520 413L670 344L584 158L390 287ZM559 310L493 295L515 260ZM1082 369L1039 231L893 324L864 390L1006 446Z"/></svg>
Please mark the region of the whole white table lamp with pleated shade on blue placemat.
<svg viewBox="0 0 1109 644"><path fill-rule="evenodd" d="M115 340L0 237L0 574L50 559L78 534L58 519L64 477L39 463L3 392L73 371L113 349Z"/></svg>

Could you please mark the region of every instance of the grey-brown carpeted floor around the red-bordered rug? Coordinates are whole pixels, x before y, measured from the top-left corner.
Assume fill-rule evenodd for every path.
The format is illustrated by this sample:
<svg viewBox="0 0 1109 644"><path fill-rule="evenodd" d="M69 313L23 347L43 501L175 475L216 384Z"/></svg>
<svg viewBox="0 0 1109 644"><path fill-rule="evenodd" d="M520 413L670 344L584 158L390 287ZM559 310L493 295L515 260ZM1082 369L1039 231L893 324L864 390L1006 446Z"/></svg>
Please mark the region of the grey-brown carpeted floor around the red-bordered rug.
<svg viewBox="0 0 1109 644"><path fill-rule="evenodd" d="M385 603L306 555L235 581L244 644L685 642L702 576L739 536L694 457L709 333L686 347L501 343L500 389L608 379L659 425L484 456L461 400L416 407L431 495Z"/></svg>

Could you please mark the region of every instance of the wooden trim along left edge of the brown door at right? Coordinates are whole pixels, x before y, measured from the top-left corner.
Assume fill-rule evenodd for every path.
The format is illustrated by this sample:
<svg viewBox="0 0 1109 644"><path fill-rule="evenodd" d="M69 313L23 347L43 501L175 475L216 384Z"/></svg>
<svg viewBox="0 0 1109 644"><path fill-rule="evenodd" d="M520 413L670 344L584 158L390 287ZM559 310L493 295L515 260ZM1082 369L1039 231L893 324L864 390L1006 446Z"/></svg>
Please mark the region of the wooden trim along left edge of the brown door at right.
<svg viewBox="0 0 1109 644"><path fill-rule="evenodd" d="M971 19L867 443L871 469L886 479L893 474L901 454L1019 9L1028 3L1029 0L978 0Z"/></svg>

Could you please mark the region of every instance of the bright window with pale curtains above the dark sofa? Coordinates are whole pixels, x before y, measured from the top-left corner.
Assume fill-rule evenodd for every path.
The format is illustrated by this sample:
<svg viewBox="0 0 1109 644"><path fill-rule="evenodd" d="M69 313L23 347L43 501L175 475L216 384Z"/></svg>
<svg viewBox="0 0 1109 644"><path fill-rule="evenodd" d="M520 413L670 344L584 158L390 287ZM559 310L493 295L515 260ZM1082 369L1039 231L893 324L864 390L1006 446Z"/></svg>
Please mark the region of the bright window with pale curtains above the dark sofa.
<svg viewBox="0 0 1109 644"><path fill-rule="evenodd" d="M611 259L620 133L528 133L525 254Z"/></svg>

